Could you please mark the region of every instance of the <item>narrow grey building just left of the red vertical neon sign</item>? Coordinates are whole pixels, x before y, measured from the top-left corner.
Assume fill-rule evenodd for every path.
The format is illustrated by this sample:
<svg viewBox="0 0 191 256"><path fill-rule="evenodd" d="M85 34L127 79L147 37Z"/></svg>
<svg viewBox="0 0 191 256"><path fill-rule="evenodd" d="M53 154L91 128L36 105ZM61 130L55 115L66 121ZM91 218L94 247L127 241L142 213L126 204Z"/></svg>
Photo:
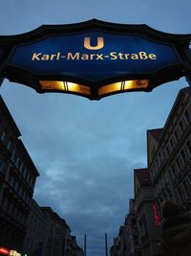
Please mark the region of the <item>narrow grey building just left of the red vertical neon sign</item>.
<svg viewBox="0 0 191 256"><path fill-rule="evenodd" d="M134 186L142 256L159 256L159 222L156 221L154 192L147 168L134 170Z"/></svg>

